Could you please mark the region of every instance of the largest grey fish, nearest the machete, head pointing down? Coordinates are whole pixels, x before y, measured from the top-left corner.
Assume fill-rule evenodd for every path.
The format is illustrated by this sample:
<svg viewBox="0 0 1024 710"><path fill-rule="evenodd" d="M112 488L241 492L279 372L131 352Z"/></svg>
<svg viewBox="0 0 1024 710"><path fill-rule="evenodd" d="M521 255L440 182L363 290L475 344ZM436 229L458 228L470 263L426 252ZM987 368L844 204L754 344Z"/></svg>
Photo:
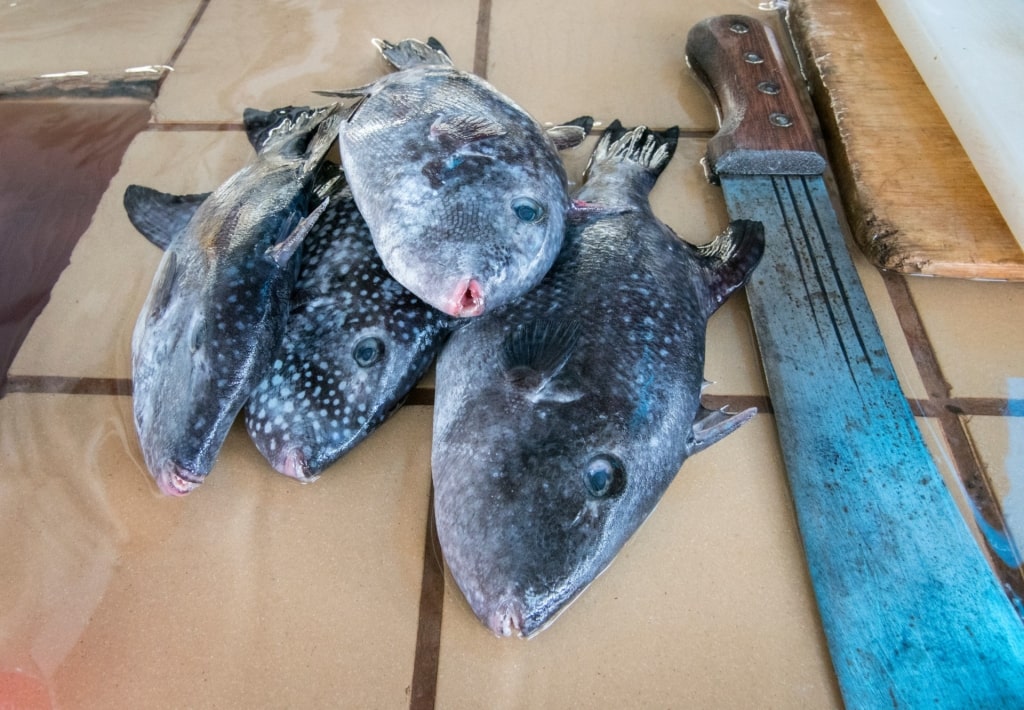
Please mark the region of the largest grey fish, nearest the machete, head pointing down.
<svg viewBox="0 0 1024 710"><path fill-rule="evenodd" d="M498 636L546 628L612 561L683 462L756 413L709 410L708 319L764 251L760 222L693 246L649 193L678 129L611 123L542 283L452 334L435 372L438 542Z"/></svg>

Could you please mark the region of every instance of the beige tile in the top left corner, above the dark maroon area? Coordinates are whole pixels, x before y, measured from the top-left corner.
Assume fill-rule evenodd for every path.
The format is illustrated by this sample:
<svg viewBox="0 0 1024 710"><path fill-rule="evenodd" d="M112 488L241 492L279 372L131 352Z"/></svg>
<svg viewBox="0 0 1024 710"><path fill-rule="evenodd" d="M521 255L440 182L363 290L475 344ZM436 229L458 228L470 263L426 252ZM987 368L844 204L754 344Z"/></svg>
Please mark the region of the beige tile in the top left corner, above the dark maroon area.
<svg viewBox="0 0 1024 710"><path fill-rule="evenodd" d="M119 75L170 60L198 0L4 2L0 6L0 82L85 71Z"/></svg>

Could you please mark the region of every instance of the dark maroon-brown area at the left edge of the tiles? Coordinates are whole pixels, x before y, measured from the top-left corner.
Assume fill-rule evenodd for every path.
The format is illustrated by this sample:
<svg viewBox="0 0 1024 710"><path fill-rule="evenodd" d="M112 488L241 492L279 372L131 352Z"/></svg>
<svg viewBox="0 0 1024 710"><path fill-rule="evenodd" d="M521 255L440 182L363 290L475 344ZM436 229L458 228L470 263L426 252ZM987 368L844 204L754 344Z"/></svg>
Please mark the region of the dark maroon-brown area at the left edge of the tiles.
<svg viewBox="0 0 1024 710"><path fill-rule="evenodd" d="M0 386L148 120L147 101L0 100Z"/></svg>

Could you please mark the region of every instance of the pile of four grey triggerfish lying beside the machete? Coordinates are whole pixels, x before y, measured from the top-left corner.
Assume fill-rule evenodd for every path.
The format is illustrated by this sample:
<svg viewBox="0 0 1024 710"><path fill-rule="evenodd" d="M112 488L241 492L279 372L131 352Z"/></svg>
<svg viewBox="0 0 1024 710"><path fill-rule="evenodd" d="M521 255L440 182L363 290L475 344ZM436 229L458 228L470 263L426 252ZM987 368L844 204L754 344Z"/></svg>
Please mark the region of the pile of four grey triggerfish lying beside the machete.
<svg viewBox="0 0 1024 710"><path fill-rule="evenodd" d="M441 551L481 622L529 636L754 415L699 400L708 319L763 231L695 247L654 216L676 129L607 126L570 196L558 152L589 118L544 129L436 40L376 44L397 71L332 92L344 108L247 110L256 156L213 193L126 191L165 251L132 337L139 441L183 495L244 409L310 482L436 357Z"/></svg>

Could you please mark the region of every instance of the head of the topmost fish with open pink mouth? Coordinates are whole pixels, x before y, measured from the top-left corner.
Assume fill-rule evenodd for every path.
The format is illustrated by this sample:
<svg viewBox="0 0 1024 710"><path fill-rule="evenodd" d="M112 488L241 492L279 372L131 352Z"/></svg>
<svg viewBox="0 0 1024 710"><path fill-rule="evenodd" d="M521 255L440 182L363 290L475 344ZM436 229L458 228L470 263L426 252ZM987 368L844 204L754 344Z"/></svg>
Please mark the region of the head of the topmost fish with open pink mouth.
<svg viewBox="0 0 1024 710"><path fill-rule="evenodd" d="M537 286L561 248L569 199L550 139L538 132L536 141L536 150L510 133L452 150L424 141L420 169L396 184L386 210L364 210L388 272L457 318Z"/></svg>

